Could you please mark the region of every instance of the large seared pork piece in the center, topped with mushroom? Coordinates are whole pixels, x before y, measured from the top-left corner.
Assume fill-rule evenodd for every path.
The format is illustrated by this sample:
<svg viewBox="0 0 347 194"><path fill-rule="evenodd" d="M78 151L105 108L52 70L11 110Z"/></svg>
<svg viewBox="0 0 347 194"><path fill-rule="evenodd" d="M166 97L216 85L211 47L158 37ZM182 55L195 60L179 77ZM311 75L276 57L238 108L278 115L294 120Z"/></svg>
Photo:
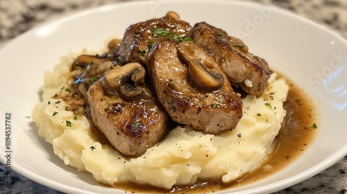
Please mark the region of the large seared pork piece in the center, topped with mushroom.
<svg viewBox="0 0 347 194"><path fill-rule="evenodd" d="M174 121L196 130L218 134L234 129L242 117L242 100L239 94L232 90L226 74L203 48L185 42L180 44L183 44L180 45L180 54L185 55L185 59L179 58L176 42L164 41L151 49L146 60L148 73L160 103ZM192 60L192 64L183 60ZM201 69L193 68L189 71L191 65L201 65L207 73L214 73L210 72L211 78L205 79L201 75L204 76L206 72L201 75L194 74ZM213 67L208 69L208 66ZM191 73L201 79L199 84ZM208 80L214 78L215 84L210 84ZM204 86L206 87L203 88Z"/></svg>

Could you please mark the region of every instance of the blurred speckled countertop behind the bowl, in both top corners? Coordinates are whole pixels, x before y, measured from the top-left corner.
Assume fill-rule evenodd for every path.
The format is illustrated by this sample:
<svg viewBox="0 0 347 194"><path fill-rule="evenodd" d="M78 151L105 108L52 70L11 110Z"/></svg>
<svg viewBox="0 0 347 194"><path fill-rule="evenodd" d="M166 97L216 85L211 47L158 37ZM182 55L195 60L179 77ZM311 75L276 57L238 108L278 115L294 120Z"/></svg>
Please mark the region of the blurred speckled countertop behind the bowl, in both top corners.
<svg viewBox="0 0 347 194"><path fill-rule="evenodd" d="M0 0L0 43L44 21L71 12L126 0ZM142 0L144 1L144 0ZM253 0L296 12L347 38L345 0Z"/></svg>

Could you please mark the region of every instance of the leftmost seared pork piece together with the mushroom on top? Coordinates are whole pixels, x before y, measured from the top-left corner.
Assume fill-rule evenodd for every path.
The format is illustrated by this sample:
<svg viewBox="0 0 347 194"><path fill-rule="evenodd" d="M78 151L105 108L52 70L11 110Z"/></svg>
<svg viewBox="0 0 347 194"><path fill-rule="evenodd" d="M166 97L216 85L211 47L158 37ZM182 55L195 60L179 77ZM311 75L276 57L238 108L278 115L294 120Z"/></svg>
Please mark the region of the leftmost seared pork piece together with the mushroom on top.
<svg viewBox="0 0 347 194"><path fill-rule="evenodd" d="M144 68L126 64L109 71L87 91L96 127L123 155L139 156L167 133L167 113L144 82Z"/></svg>

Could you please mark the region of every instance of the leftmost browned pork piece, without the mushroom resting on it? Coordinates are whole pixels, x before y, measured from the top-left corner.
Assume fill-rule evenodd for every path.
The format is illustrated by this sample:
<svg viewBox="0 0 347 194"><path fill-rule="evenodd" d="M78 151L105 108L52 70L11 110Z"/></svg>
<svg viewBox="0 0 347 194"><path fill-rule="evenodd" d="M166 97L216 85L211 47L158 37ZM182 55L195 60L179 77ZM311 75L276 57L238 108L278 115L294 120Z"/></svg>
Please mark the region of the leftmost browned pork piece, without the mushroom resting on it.
<svg viewBox="0 0 347 194"><path fill-rule="evenodd" d="M142 155L167 133L167 114L160 103L146 95L133 100L105 95L100 81L87 92L96 127L119 152Z"/></svg>

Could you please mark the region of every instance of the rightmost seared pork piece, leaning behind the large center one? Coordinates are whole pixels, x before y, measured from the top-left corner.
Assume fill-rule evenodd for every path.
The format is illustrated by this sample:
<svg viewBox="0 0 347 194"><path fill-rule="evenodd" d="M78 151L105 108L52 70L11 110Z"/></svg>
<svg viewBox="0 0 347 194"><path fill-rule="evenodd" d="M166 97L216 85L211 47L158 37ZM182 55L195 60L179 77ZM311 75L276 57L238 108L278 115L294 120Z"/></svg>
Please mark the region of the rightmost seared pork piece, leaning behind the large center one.
<svg viewBox="0 0 347 194"><path fill-rule="evenodd" d="M195 24L190 35L194 43L214 55L232 83L248 94L261 96L273 73L265 60L249 53L240 39L205 22Z"/></svg>

